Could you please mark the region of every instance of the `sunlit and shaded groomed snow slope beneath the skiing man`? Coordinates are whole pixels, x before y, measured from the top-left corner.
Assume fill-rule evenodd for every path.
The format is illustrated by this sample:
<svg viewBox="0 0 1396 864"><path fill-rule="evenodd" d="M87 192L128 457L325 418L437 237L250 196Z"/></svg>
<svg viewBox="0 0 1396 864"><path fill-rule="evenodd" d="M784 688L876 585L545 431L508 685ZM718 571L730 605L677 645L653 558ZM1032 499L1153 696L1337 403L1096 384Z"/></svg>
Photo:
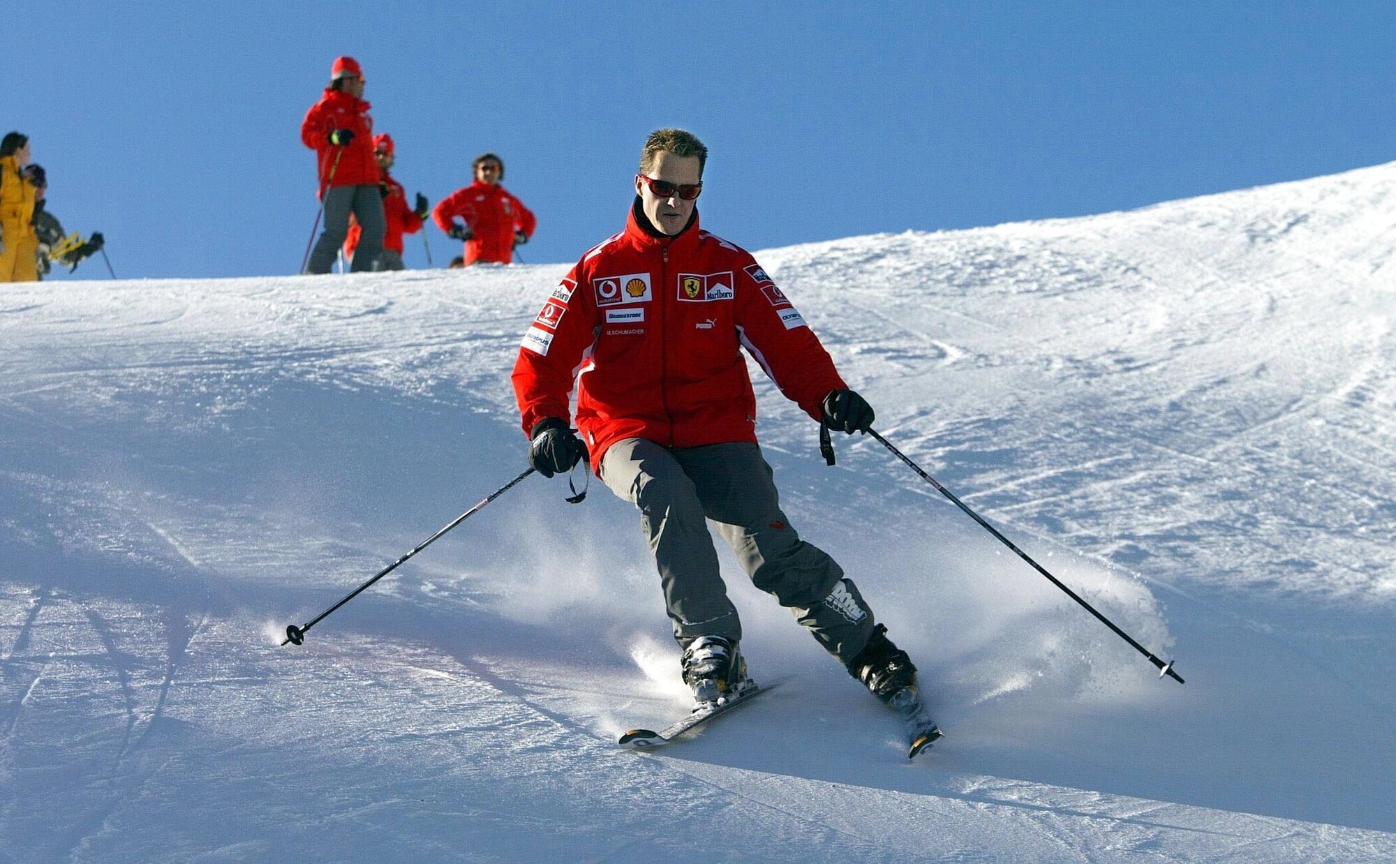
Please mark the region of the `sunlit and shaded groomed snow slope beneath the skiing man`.
<svg viewBox="0 0 1396 864"><path fill-rule="evenodd" d="M618 750L685 701L597 482L279 646L525 468L565 265L0 286L0 858L1393 860L1393 248L1386 165L758 255L888 440L1187 678L754 367L787 512L920 664L914 764L726 550L782 685Z"/></svg>

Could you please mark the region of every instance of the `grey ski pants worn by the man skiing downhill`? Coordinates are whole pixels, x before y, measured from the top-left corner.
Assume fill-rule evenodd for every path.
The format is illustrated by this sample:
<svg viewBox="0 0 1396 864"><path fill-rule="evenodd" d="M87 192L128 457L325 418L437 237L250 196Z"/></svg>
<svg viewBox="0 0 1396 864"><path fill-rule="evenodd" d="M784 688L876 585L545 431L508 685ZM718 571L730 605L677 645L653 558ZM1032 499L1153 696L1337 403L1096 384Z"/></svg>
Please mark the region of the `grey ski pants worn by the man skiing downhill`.
<svg viewBox="0 0 1396 864"><path fill-rule="evenodd" d="M872 610L839 564L801 540L780 511L758 445L670 448L624 438L606 451L600 473L611 491L639 508L680 645L698 636L741 638L708 521L751 582L789 607L840 663L867 645Z"/></svg>

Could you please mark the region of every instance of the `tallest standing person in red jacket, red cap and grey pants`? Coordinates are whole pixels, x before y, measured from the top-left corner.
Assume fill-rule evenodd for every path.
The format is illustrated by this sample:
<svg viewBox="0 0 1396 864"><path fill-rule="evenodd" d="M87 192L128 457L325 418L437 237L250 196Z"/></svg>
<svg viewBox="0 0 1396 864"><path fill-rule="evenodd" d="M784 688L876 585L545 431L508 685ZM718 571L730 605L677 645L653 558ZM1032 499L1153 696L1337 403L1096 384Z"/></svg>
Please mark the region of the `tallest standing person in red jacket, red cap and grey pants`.
<svg viewBox="0 0 1396 864"><path fill-rule="evenodd" d="M349 233L349 215L359 221L359 254L352 271L373 269L383 251L383 195L378 163L373 158L373 117L363 100L363 71L353 57L338 57L325 95L306 112L300 140L320 163L320 198L325 230L306 265L309 274L328 274Z"/></svg>

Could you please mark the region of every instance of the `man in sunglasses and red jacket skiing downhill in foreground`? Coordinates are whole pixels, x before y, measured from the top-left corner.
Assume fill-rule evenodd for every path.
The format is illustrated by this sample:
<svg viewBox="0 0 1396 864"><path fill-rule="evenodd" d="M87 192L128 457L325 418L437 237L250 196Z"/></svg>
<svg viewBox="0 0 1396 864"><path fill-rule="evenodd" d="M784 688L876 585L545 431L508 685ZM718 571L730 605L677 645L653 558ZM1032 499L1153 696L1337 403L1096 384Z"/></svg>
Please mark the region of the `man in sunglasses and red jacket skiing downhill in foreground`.
<svg viewBox="0 0 1396 864"><path fill-rule="evenodd" d="M525 334L512 381L529 462L550 477L589 454L611 491L639 508L699 706L748 685L711 521L757 588L930 734L916 666L780 509L741 349L831 429L866 431L872 408L755 258L698 228L706 156L691 133L652 133L625 229L578 261ZM574 384L581 437L568 422Z"/></svg>

